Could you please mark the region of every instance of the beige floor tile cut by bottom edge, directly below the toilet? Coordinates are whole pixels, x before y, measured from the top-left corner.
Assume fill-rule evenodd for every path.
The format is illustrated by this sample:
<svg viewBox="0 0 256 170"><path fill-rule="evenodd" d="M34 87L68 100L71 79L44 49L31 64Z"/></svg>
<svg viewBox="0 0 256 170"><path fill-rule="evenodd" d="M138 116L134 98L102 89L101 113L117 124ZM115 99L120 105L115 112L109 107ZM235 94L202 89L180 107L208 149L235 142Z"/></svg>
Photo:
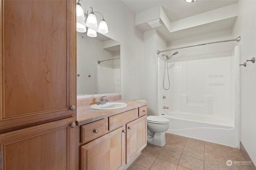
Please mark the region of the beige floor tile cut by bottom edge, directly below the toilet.
<svg viewBox="0 0 256 170"><path fill-rule="evenodd" d="M153 164L150 166L150 170L176 170L177 165L166 160L156 158Z"/></svg>

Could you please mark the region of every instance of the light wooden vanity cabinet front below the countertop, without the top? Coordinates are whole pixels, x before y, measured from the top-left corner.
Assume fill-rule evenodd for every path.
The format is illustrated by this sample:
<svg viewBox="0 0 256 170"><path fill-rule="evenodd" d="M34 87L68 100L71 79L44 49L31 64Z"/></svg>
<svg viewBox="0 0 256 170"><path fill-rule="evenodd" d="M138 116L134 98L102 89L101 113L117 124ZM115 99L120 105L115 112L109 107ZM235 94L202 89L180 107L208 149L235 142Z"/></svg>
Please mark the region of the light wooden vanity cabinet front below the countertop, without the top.
<svg viewBox="0 0 256 170"><path fill-rule="evenodd" d="M105 119L82 125L81 142L88 143L80 147L81 170L123 170L130 166L147 145L147 115L143 112L139 117L139 111L145 109L146 105L108 117L108 132L104 131ZM85 127L89 130L86 134ZM96 138L100 131L94 134L95 129L102 130L101 137Z"/></svg>

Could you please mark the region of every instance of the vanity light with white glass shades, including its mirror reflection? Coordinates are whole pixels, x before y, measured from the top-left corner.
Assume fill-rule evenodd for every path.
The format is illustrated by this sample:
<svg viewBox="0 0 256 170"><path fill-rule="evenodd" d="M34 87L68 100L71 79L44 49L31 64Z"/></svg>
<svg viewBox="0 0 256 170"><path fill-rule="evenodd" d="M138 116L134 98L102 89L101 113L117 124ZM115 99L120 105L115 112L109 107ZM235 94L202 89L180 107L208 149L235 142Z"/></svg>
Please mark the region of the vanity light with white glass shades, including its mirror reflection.
<svg viewBox="0 0 256 170"><path fill-rule="evenodd" d="M87 9L87 13L84 13L84 10L82 8L82 5L80 4L80 1L82 2L84 6L84 2L82 0L78 0L76 3L76 31L77 32L86 32L86 26L88 27L87 30L87 36L89 37L96 37L97 32L93 30L92 28L98 27L98 32L101 34L108 33L108 25L106 21L104 20L103 15L100 12L93 11L92 7L89 7ZM90 14L88 14L88 10L91 9L92 11ZM100 21L100 24L98 26L98 21L94 13L98 13L102 16L102 20Z"/></svg>

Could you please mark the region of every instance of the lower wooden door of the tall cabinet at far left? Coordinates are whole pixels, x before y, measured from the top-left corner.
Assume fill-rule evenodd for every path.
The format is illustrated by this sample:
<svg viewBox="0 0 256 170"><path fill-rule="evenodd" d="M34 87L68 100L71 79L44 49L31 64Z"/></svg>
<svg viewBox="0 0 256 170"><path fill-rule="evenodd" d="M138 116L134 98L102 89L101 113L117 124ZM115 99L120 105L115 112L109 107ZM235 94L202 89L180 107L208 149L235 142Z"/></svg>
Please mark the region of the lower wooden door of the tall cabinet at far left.
<svg viewBox="0 0 256 170"><path fill-rule="evenodd" d="M0 134L1 170L73 170L73 119Z"/></svg>

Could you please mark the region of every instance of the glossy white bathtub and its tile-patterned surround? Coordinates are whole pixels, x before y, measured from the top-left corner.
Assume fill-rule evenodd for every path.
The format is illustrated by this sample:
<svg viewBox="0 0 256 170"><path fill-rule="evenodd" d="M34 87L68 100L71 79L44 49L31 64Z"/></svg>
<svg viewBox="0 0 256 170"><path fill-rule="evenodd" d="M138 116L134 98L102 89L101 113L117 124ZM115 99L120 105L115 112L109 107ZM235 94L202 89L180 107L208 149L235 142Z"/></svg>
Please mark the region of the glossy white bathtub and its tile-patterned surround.
<svg viewBox="0 0 256 170"><path fill-rule="evenodd" d="M182 50L178 54L182 55ZM189 55L188 51L184 55ZM229 57L219 56L170 62L167 91L162 88L164 61L159 57L158 113L170 120L167 132L237 148L238 47Z"/></svg>

